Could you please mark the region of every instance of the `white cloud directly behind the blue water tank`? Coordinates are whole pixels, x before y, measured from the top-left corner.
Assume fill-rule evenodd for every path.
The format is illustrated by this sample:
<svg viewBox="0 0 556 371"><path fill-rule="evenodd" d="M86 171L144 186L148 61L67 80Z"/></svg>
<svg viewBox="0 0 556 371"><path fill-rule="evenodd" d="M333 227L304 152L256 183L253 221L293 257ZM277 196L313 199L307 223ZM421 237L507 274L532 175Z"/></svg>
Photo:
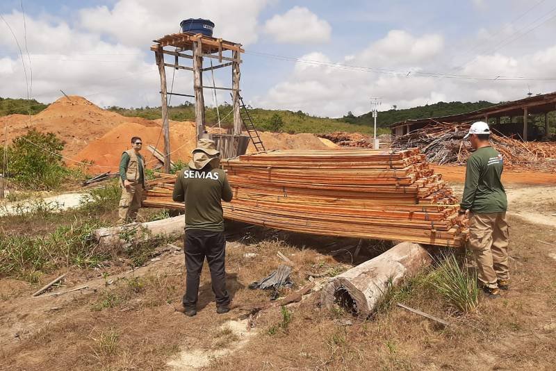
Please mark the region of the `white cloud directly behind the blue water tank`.
<svg viewBox="0 0 556 371"><path fill-rule="evenodd" d="M81 27L109 35L127 45L145 47L152 40L180 32L184 17L207 18L214 35L244 45L258 38L259 13L267 0L120 0L113 8L97 6L80 11Z"/></svg>

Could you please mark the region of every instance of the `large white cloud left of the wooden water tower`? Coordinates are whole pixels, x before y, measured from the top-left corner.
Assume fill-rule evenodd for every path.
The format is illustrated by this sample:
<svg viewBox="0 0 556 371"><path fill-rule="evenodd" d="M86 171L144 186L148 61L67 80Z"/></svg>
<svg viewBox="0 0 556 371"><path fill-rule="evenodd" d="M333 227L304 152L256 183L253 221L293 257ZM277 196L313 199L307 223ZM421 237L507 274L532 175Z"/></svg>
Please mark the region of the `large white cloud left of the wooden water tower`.
<svg viewBox="0 0 556 371"><path fill-rule="evenodd" d="M14 11L3 17L23 47L22 14ZM100 35L77 31L59 20L46 22L26 15L26 27L33 32L27 33L29 55L23 49L23 63L29 85L32 83L32 96L39 101L53 101L64 90L88 97L100 106L145 106L147 101L159 104L156 65L145 62L150 51L104 42ZM26 97L22 58L13 35L4 28L6 25L0 24L0 47L9 50L11 56L0 61L0 96ZM150 91L150 95L136 94L137 90Z"/></svg>

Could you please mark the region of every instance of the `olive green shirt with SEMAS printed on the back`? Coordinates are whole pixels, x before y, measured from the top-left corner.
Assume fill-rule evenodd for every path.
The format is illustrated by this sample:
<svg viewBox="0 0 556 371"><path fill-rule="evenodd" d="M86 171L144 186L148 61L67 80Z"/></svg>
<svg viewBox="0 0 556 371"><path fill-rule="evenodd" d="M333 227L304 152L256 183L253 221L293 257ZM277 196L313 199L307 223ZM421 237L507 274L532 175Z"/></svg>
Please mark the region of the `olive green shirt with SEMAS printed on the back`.
<svg viewBox="0 0 556 371"><path fill-rule="evenodd" d="M224 231L222 199L231 201L228 176L222 169L206 165L202 170L188 166L178 173L172 199L186 203L186 231Z"/></svg>

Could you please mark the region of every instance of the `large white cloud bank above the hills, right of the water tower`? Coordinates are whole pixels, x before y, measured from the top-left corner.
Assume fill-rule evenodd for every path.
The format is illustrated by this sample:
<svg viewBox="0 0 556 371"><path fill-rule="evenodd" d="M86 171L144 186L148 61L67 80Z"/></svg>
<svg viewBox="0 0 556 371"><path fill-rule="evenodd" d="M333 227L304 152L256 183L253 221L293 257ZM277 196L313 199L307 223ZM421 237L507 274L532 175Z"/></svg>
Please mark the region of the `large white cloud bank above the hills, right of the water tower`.
<svg viewBox="0 0 556 371"><path fill-rule="evenodd" d="M508 56L502 53L477 56L457 72L450 71L440 35L411 35L390 31L382 40L350 56L332 58L314 51L300 59L321 60L325 65L305 65L298 61L291 76L261 97L256 106L302 110L314 115L341 117L348 110L361 115L370 110L370 97L382 97L382 110L393 105L410 108L439 101L493 102L525 97L531 91L550 92L543 81L493 81L449 79L423 76L418 71L446 72L473 76L556 76L556 46L531 54ZM349 59L349 62L346 60ZM338 65L334 65L338 63ZM357 71L345 65L382 67L375 72ZM336 68L337 67L337 68ZM409 77L404 71L414 71Z"/></svg>

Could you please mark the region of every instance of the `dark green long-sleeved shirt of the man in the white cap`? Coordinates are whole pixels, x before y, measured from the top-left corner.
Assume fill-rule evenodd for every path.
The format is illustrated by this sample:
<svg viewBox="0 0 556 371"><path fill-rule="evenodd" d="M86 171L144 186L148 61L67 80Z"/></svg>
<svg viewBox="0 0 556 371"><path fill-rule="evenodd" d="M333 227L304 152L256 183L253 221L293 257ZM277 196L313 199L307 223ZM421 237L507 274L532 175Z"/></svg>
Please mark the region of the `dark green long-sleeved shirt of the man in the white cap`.
<svg viewBox="0 0 556 371"><path fill-rule="evenodd" d="M493 147L477 149L467 160L461 208L473 213L502 213L508 201L500 177L502 155Z"/></svg>

